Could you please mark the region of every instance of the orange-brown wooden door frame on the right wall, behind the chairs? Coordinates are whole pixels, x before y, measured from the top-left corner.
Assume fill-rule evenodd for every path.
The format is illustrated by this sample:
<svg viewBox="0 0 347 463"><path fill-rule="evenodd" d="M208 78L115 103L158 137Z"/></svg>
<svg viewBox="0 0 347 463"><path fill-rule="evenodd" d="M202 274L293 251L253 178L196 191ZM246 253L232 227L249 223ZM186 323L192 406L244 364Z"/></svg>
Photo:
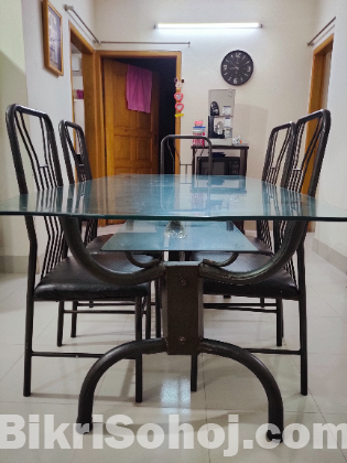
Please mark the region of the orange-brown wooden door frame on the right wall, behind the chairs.
<svg viewBox="0 0 347 463"><path fill-rule="evenodd" d="M326 55L333 50L333 44L334 44L334 34L329 35L324 42L322 42L313 51L308 114L318 111L319 109L322 109ZM308 148L308 143L313 137L315 128L316 128L315 122L312 121L307 123L305 150L307 150ZM304 183L302 187L303 194L307 194L310 181L312 176L312 171L313 171L313 164L314 164L314 155L312 157L310 161L307 172L304 179Z"/></svg>

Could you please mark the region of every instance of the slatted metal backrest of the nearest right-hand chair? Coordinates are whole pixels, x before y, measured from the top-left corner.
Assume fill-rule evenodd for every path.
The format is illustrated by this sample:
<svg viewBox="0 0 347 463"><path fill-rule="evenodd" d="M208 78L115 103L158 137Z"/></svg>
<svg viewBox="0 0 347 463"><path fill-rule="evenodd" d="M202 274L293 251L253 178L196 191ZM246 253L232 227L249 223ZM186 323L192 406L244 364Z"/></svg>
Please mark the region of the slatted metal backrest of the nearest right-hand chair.
<svg viewBox="0 0 347 463"><path fill-rule="evenodd" d="M308 123L314 125L314 130L311 131L311 138L305 141L305 147L303 147L304 133L308 133ZM315 197L330 123L330 112L327 109L321 109L297 120L292 155L285 161L281 186L301 193L306 175L311 174L307 195ZM282 244L285 226L285 220L274 225L275 249ZM295 279L292 261L288 263L286 270Z"/></svg>

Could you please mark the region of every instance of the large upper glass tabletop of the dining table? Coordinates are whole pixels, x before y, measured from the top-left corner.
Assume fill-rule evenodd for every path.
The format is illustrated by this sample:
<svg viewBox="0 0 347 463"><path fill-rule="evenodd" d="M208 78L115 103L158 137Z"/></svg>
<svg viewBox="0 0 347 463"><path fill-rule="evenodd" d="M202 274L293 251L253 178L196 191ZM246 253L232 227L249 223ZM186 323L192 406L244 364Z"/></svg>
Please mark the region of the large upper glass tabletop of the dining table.
<svg viewBox="0 0 347 463"><path fill-rule="evenodd" d="M0 215L141 220L347 220L347 211L242 176L122 174L0 202Z"/></svg>

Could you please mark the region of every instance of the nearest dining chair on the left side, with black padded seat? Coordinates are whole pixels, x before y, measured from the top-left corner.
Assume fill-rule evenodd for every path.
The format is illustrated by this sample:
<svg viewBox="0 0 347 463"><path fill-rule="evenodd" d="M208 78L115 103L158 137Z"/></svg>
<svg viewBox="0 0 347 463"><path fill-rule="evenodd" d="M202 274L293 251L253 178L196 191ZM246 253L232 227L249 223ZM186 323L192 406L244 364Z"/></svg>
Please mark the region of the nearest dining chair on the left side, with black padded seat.
<svg viewBox="0 0 347 463"><path fill-rule="evenodd" d="M30 130L28 129L30 121ZM37 202L50 197L50 189L62 186L63 176L58 160L54 129L50 117L45 112L30 109L20 105L11 105L7 109L7 128L15 168L20 194L28 194L29 185L23 166L22 157L29 157L34 184L37 191ZM36 137L31 137L34 133ZM40 141L39 141L40 138ZM58 202L57 197L52 200ZM37 235L35 220L25 216L28 237L30 241L28 289L26 289L26 321L25 321L25 351L24 351L24 396L31 395L32 358L43 357L95 357L94 353L67 352L36 352L33 351L34 305L37 301L58 302L57 344L61 344L63 334L63 313L74 313L64 309L67 301L133 301L135 338L142 338L142 300L150 298L150 283L134 286L115 286L94 278L82 268L73 257L67 255L63 229L57 217L44 217L47 243L44 252L41 276L35 282L37 262ZM124 274L131 273L134 267L126 256L115 260L108 252L95 254L94 258L104 267ZM140 256L139 260L147 262L153 260L149 256ZM97 311L96 311L97 312ZM120 311L117 311L118 313ZM90 311L79 311L90 313ZM142 357L135 356L135 400L142 401Z"/></svg>

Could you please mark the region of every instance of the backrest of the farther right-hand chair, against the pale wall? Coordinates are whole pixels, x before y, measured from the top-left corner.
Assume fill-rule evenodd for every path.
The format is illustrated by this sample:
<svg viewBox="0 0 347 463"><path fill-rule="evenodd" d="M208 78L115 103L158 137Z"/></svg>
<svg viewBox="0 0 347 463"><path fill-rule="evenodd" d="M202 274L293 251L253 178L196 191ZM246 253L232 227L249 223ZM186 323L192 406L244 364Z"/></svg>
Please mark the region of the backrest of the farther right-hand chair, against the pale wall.
<svg viewBox="0 0 347 463"><path fill-rule="evenodd" d="M292 157L293 142L295 137L295 123L288 122L282 126L274 127L271 130L268 149L265 154L264 166L261 180L275 185L279 179L283 160L288 166L288 159ZM281 140L281 143L279 143ZM285 175L283 169L283 175ZM268 220L257 220L257 238L265 243L272 249L271 234Z"/></svg>

